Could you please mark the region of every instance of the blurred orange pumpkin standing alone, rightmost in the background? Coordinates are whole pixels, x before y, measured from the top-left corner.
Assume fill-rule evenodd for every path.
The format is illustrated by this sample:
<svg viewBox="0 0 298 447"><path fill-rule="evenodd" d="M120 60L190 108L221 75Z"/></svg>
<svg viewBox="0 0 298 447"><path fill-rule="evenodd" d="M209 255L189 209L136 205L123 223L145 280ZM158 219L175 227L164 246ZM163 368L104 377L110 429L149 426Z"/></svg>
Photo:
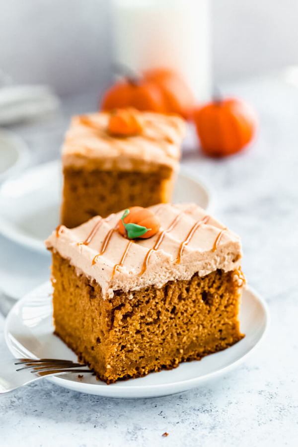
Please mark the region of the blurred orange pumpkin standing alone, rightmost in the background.
<svg viewBox="0 0 298 447"><path fill-rule="evenodd" d="M238 152L253 138L257 118L244 101L217 100L193 111L193 120L203 152L225 156Z"/></svg>

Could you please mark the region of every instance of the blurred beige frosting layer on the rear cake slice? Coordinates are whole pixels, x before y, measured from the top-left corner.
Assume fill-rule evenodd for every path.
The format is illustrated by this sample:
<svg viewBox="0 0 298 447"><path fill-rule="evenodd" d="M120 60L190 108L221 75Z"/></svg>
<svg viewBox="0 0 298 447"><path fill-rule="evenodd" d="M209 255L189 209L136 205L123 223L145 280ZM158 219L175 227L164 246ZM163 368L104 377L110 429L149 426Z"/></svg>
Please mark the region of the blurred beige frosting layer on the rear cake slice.
<svg viewBox="0 0 298 447"><path fill-rule="evenodd" d="M62 148L63 165L92 169L99 163L105 170L142 171L164 165L177 169L185 121L177 115L140 113L142 134L125 138L107 132L108 112L74 116Z"/></svg>

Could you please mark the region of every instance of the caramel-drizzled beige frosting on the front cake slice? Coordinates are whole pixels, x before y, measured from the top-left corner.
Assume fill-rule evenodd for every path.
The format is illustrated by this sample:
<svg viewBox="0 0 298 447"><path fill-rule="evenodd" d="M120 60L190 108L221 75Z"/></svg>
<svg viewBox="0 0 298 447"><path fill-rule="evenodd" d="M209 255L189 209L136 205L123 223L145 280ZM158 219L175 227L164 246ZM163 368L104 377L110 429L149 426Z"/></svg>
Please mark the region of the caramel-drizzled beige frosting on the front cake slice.
<svg viewBox="0 0 298 447"><path fill-rule="evenodd" d="M60 225L45 244L68 259L78 274L95 280L109 298L116 290L160 288L168 281L189 280L197 272L205 276L217 269L227 272L240 267L239 236L202 208L159 204L149 209L161 227L148 239L130 243L117 231L121 211L106 219L96 216L72 229Z"/></svg>

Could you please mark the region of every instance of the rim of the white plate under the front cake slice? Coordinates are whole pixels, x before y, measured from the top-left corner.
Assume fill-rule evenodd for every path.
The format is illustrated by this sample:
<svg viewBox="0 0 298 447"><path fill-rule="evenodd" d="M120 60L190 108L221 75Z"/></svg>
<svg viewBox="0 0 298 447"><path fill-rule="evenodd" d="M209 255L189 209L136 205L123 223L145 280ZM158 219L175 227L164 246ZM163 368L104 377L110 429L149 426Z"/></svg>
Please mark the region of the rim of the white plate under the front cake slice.
<svg viewBox="0 0 298 447"><path fill-rule="evenodd" d="M14 306L11 308L10 312L8 313L8 315L5 319L4 339L5 339L5 342L6 342L6 345L9 349L9 351L11 352L11 354L13 356L17 356L19 354L16 350L14 350L13 346L10 343L9 337L8 337L9 322L10 322L10 319L12 318L13 312L15 310L17 310L19 307L21 307L23 302L26 301L26 299L28 299L28 297L31 294L34 294L35 291L37 291L39 288L45 287L46 284L50 284L50 282L47 281L46 283L42 284L41 286L35 288L29 294L26 294L19 301L17 301L14 304ZM207 373L207 374L201 375L199 377L193 377L190 379L180 380L180 381L176 381L176 382L170 382L170 383L166 383L166 384L162 383L162 384L133 385L133 386L126 385L125 387L117 387L117 388L115 386L113 386L113 385L117 385L117 383L111 384L108 386L102 386L99 384L97 385L97 384L92 384L92 383L84 383L84 382L67 380L67 379L61 378L61 377L46 377L46 379L51 381L52 383L56 383L59 386L62 386L64 388L68 388L68 389L72 389L74 391L93 394L93 395L99 395L99 396L103 396L103 397L112 397L112 398L128 398L125 395L128 394L129 392L132 392L132 394L133 394L129 398L138 398L138 396L134 395L134 394L138 394L138 391L139 392L142 391L143 393L145 393L145 395L143 394L141 396L141 398L160 397L160 396L175 394L177 392L178 393L183 392L183 391L189 390L191 388L194 388L196 386L200 386L201 384L204 384L207 381L216 379L226 373L229 373L231 370L236 369L240 364L242 364L245 360L247 360L247 358L264 341L264 339L268 333L268 329L270 326L270 314L269 314L269 309L268 309L268 305L267 305L266 301L252 287L247 287L245 289L245 291L249 292L252 295L253 299L258 301L259 304L261 304L262 310L264 312L264 319L265 319L264 329L263 329L263 332L261 333L259 339L256 341L256 343L244 355L242 355L237 360L233 361L231 364L225 366L224 368L216 370L212 373ZM34 356L32 358L34 358ZM134 380L134 379L130 379L130 380ZM173 390L173 388L175 388L175 387L176 387L176 389L179 388L179 390L178 391ZM95 391L95 389L99 392L92 392L93 390ZM148 391L150 391L150 390L152 390L151 394L148 393ZM161 393L160 393L160 390L162 390ZM100 391L102 391L102 392L100 392ZM154 393L154 391L156 391L156 393ZM169 391L171 391L171 392L169 392ZM121 394L123 394L123 395L121 395Z"/></svg>

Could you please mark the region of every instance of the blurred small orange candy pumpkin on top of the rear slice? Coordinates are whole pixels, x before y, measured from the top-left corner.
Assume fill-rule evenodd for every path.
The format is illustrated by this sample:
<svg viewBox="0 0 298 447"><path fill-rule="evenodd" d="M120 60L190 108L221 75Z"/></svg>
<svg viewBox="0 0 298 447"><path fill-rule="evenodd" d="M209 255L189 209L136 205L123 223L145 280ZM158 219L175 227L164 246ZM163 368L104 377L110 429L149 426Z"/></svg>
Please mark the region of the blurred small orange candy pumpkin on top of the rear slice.
<svg viewBox="0 0 298 447"><path fill-rule="evenodd" d="M108 122L108 132L119 137L140 135L142 133L140 112L133 108L117 109L111 112Z"/></svg>

